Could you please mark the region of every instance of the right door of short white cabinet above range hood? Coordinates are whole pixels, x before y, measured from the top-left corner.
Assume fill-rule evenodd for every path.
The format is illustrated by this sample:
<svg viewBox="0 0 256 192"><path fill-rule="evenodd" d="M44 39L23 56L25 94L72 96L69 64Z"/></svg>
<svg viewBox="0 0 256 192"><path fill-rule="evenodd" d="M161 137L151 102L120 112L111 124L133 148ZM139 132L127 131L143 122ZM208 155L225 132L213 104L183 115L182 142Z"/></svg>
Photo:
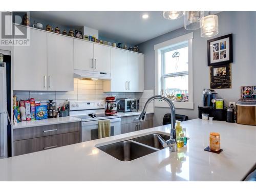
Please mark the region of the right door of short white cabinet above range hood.
<svg viewBox="0 0 256 192"><path fill-rule="evenodd" d="M110 47L94 44L94 71L110 73Z"/></svg>

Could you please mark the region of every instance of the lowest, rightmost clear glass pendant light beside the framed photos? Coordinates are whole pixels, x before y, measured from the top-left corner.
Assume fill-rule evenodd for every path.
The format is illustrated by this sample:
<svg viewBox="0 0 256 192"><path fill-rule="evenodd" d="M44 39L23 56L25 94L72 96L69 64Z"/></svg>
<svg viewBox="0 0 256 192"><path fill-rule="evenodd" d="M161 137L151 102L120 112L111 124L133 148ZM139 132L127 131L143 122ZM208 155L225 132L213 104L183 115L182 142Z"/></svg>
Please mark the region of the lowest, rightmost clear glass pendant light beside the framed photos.
<svg viewBox="0 0 256 192"><path fill-rule="evenodd" d="M210 12L208 12L208 16L205 16L202 21L201 37L212 37L219 33L219 21L217 15L211 15Z"/></svg>

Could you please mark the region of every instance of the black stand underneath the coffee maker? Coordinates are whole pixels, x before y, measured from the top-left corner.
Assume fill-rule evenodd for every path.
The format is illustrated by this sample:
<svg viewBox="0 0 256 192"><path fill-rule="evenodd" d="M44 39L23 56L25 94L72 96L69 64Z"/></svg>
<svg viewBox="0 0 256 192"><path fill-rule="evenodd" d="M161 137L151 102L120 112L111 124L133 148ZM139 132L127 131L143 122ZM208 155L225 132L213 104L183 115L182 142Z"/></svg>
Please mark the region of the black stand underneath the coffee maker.
<svg viewBox="0 0 256 192"><path fill-rule="evenodd" d="M227 110L226 109L215 109L211 106L203 107L198 106L198 118L202 119L202 113L209 114L209 117L214 117L214 120L226 121Z"/></svg>

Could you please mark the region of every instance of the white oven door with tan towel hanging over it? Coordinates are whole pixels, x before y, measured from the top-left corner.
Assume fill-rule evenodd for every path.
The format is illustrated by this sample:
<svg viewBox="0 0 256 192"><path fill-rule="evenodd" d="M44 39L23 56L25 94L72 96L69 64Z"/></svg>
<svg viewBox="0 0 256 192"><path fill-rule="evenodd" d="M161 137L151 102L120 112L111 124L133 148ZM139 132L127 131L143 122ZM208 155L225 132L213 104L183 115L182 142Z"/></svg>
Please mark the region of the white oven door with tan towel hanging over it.
<svg viewBox="0 0 256 192"><path fill-rule="evenodd" d="M110 119L110 136L121 134L121 118ZM98 121L82 122L81 142L98 139Z"/></svg>

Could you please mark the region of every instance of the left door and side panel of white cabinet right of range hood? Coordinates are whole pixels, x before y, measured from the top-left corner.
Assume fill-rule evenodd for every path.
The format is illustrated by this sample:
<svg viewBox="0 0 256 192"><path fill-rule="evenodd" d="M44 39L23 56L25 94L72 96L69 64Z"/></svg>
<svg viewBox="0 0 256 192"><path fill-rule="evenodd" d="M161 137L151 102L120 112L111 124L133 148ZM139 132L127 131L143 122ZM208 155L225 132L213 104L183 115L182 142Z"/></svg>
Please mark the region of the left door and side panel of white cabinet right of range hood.
<svg viewBox="0 0 256 192"><path fill-rule="evenodd" d="M128 52L111 49L111 80L103 81L104 92L126 92L128 90Z"/></svg>

